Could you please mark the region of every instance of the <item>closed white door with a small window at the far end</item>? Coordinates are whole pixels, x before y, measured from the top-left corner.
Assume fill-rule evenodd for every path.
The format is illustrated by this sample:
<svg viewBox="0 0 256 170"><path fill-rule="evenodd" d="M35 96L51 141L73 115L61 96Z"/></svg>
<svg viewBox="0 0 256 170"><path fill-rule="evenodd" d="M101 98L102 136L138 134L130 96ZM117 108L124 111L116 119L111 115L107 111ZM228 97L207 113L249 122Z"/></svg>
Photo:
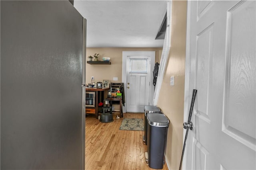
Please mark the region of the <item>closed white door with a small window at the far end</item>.
<svg viewBox="0 0 256 170"><path fill-rule="evenodd" d="M126 111L144 112L149 105L150 57L127 57Z"/></svg>

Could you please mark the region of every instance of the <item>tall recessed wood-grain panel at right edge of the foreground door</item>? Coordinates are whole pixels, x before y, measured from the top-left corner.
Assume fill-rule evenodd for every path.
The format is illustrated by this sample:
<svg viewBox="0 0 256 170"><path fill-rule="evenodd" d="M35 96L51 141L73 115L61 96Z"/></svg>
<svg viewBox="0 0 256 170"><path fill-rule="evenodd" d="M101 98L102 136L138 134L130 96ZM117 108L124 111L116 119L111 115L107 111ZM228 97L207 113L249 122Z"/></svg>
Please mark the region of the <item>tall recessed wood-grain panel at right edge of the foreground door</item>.
<svg viewBox="0 0 256 170"><path fill-rule="evenodd" d="M256 138L256 80L253 77L256 75L256 60L252 52L256 47L256 34L255 20L254 23L248 20L255 14L255 8L251 8L251 5L250 2L240 3L228 11L228 68L222 128L225 133L253 149ZM250 27L244 29L244 25Z"/></svg>

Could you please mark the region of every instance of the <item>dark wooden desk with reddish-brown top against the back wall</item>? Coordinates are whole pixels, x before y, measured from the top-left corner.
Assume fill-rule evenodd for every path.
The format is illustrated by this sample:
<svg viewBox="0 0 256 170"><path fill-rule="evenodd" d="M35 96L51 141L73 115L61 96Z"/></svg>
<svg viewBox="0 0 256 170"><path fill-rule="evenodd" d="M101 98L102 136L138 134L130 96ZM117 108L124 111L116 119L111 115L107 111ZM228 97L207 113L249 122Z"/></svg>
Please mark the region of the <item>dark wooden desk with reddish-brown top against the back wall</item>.
<svg viewBox="0 0 256 170"><path fill-rule="evenodd" d="M98 104L103 103L104 92L110 90L110 88L86 88L86 92L95 92L95 107L86 107L85 113L95 114L96 119L98 119Z"/></svg>

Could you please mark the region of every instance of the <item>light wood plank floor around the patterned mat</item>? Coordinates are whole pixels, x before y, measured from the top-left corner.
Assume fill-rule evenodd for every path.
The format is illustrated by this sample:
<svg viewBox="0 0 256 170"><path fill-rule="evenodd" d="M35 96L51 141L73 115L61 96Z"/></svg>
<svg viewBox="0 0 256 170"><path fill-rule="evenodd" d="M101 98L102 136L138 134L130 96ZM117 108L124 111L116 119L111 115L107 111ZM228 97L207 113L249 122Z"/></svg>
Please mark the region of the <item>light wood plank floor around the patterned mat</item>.
<svg viewBox="0 0 256 170"><path fill-rule="evenodd" d="M122 119L101 123L86 116L86 170L153 170L145 161L144 131L119 130ZM118 114L119 115L119 114ZM124 113L125 118L144 118L144 113ZM168 170L164 165L163 170Z"/></svg>

